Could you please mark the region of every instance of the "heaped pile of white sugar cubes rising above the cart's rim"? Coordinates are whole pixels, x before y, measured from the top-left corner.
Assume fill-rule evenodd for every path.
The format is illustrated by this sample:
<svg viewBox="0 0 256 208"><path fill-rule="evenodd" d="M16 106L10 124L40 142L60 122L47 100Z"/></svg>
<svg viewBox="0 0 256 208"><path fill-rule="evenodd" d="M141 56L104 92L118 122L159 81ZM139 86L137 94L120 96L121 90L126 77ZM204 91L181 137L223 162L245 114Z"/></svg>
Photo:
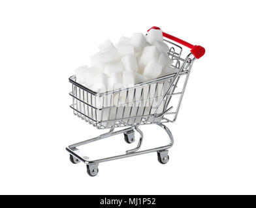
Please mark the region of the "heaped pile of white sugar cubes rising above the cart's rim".
<svg viewBox="0 0 256 208"><path fill-rule="evenodd" d="M76 81L101 93L176 73L168 51L161 30L151 29L147 36L142 33L134 33L131 38L121 36L116 46L106 40L91 57L90 67L80 66L75 70Z"/></svg>

